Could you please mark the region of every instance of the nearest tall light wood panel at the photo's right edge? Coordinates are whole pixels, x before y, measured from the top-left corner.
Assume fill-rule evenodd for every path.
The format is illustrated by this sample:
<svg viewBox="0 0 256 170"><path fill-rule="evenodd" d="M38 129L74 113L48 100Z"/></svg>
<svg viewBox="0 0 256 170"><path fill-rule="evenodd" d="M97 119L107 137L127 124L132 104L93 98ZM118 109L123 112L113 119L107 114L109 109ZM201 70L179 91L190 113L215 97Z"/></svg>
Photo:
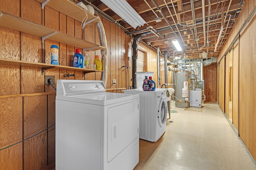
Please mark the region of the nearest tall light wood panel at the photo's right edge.
<svg viewBox="0 0 256 170"><path fill-rule="evenodd" d="M256 158L256 106L254 101L256 84L256 17L241 34L239 41L239 134L240 138ZM248 43L251 42L251 43Z"/></svg>

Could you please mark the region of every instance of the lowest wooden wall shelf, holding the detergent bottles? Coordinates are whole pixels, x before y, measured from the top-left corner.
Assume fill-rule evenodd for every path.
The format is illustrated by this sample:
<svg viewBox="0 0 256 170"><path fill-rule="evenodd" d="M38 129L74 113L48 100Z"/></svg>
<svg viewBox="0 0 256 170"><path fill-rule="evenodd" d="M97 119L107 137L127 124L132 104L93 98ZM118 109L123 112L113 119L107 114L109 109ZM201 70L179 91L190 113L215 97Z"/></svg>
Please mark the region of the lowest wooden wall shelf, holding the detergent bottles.
<svg viewBox="0 0 256 170"><path fill-rule="evenodd" d="M74 71L82 71L84 72L84 74L89 72L102 72L102 70L92 70L87 68L60 66L60 65L45 64L45 63L34 63L29 61L20 61L20 60L11 60L11 59L0 59L0 64L37 67L37 68L42 68L43 70L47 70L47 69L74 70Z"/></svg>

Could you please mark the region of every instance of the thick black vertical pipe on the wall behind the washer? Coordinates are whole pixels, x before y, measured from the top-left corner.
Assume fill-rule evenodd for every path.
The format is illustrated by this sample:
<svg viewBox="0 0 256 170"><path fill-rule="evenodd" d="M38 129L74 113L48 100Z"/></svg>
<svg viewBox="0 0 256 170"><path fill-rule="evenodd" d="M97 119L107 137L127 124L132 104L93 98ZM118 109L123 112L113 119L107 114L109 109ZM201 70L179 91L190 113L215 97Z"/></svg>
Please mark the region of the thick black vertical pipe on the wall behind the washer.
<svg viewBox="0 0 256 170"><path fill-rule="evenodd" d="M136 35L132 42L132 88L137 88L136 72L138 59L138 42L142 35Z"/></svg>

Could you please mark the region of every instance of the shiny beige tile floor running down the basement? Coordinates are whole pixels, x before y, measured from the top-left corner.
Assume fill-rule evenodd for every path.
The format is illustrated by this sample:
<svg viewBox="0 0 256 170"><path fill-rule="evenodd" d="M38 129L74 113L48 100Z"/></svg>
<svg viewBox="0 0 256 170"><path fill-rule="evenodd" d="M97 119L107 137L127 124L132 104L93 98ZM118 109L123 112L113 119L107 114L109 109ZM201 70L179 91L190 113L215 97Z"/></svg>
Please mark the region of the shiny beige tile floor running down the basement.
<svg viewBox="0 0 256 170"><path fill-rule="evenodd" d="M171 106L177 113L167 119L164 135L155 143L140 139L134 170L256 170L215 102L202 108Z"/></svg>

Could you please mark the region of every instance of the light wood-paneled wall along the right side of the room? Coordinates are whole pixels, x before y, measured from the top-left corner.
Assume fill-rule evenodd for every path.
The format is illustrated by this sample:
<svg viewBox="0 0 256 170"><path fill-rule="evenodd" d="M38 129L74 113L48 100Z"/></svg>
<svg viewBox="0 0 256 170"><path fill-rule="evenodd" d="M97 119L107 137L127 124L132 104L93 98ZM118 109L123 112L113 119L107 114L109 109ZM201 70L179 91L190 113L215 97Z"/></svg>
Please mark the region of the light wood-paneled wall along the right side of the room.
<svg viewBox="0 0 256 170"><path fill-rule="evenodd" d="M238 135L242 139L250 154L256 159L256 116L254 114L256 106L254 104L254 84L255 84L255 57L254 52L256 42L256 17L245 23L256 7L256 0L246 0L240 14L232 27L222 51L218 57L218 63L233 47L232 53L232 123L238 130ZM242 26L245 28L242 30ZM237 36L237 35L240 35ZM239 40L238 40L239 39ZM237 42L235 42L237 41ZM225 74L225 72L220 72ZM220 78L219 78L220 80ZM228 85L228 84L226 84ZM219 89L219 93L221 89Z"/></svg>

